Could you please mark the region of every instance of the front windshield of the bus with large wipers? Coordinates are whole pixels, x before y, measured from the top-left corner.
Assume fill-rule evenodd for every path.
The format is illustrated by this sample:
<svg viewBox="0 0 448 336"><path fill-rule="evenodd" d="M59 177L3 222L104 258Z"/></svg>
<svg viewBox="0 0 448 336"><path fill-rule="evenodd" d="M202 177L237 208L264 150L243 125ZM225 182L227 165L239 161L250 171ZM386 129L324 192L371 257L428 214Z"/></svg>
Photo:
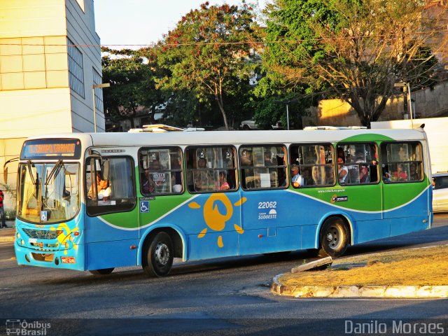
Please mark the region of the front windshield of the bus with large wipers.
<svg viewBox="0 0 448 336"><path fill-rule="evenodd" d="M18 217L32 223L59 223L79 210L79 164L28 161L19 167Z"/></svg>

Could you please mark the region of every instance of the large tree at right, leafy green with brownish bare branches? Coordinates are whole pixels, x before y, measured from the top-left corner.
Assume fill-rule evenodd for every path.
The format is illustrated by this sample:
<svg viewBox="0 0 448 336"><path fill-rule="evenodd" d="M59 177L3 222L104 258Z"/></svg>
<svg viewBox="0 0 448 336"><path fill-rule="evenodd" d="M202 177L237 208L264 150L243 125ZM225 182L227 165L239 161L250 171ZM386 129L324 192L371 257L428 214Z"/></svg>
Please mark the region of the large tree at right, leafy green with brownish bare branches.
<svg viewBox="0 0 448 336"><path fill-rule="evenodd" d="M293 85L328 87L370 127L394 83L433 76L434 53L421 55L442 21L424 9L416 0L274 0L265 64Z"/></svg>

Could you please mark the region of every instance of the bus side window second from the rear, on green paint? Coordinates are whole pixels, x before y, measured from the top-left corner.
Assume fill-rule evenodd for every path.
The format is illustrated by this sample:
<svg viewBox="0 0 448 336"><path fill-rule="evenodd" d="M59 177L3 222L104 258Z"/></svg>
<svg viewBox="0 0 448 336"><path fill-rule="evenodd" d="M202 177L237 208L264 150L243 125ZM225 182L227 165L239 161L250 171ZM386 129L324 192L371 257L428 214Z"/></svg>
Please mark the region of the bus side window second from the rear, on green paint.
<svg viewBox="0 0 448 336"><path fill-rule="evenodd" d="M375 144L338 144L337 173L339 183L343 185L377 183L377 153L377 145Z"/></svg>

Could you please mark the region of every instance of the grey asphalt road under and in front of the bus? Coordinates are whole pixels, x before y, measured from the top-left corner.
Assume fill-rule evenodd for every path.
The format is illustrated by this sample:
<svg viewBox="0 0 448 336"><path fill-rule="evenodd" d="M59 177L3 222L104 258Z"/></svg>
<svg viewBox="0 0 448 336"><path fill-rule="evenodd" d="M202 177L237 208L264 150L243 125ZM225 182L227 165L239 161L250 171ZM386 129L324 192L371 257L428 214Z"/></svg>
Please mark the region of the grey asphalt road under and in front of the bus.
<svg viewBox="0 0 448 336"><path fill-rule="evenodd" d="M353 246L346 255L439 244L448 244L448 215L437 215L431 230ZM13 243L0 243L0 335L23 320L47 321L46 335L354 335L357 321L377 331L384 323L381 335L408 325L417 333L402 329L407 335L426 335L421 325L442 323L448 335L448 300L272 295L272 278L309 260L305 252L179 263L163 279L146 278L140 267L109 276L18 267L13 255Z"/></svg>

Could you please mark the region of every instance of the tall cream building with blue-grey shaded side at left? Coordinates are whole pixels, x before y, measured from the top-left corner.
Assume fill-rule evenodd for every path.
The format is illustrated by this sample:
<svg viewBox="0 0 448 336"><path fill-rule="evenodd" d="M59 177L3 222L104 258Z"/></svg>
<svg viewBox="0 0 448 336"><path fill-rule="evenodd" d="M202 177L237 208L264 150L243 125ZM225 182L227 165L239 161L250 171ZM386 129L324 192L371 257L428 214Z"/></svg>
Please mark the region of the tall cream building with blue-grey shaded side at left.
<svg viewBox="0 0 448 336"><path fill-rule="evenodd" d="M93 0L0 0L0 13L1 169L27 137L94 132L94 119L104 132L102 89L93 89L102 83ZM15 172L11 162L8 186Z"/></svg>

